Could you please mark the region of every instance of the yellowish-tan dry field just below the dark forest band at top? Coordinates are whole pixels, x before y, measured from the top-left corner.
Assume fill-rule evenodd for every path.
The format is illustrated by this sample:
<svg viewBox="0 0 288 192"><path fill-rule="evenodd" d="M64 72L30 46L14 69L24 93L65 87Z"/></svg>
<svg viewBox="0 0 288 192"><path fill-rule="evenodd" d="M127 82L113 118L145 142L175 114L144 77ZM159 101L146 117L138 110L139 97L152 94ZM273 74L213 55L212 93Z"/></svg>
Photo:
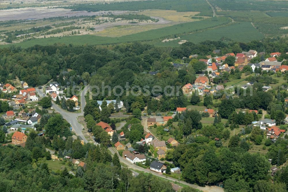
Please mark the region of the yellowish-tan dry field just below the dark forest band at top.
<svg viewBox="0 0 288 192"><path fill-rule="evenodd" d="M175 10L145 10L140 12L135 12L138 14L143 14L147 16L162 17L164 19L176 22L191 22L197 19L193 19L192 16L199 14L200 12L177 12ZM199 17L200 19L202 17Z"/></svg>

